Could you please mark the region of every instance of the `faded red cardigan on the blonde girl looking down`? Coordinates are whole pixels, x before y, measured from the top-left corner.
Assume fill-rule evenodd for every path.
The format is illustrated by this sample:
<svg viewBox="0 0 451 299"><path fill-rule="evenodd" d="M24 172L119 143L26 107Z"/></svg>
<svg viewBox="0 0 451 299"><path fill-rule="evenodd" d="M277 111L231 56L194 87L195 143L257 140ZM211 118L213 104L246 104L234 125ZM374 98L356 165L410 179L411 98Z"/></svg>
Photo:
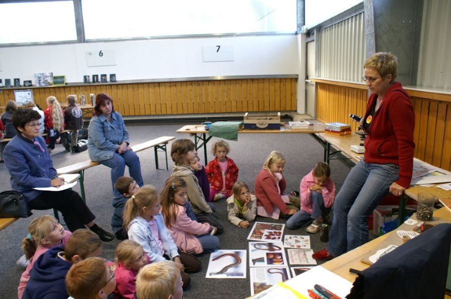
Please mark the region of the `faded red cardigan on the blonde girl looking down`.
<svg viewBox="0 0 451 299"><path fill-rule="evenodd" d="M280 193L277 190L276 179L271 175L268 169L262 169L259 175L255 179L255 196L257 196L257 206L262 206L268 213L272 213L274 206L276 205L282 213L288 214L290 209L287 204L282 200L280 194L283 194L287 182L282 176L279 181Z"/></svg>

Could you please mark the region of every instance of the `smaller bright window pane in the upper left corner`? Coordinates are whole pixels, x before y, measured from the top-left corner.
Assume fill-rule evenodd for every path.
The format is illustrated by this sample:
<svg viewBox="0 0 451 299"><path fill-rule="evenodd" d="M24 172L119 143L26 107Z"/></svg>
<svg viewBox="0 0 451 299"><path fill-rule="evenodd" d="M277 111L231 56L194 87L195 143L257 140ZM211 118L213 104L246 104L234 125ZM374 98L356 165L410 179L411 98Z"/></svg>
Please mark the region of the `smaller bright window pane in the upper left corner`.
<svg viewBox="0 0 451 299"><path fill-rule="evenodd" d="M0 4L0 44L76 41L72 1Z"/></svg>

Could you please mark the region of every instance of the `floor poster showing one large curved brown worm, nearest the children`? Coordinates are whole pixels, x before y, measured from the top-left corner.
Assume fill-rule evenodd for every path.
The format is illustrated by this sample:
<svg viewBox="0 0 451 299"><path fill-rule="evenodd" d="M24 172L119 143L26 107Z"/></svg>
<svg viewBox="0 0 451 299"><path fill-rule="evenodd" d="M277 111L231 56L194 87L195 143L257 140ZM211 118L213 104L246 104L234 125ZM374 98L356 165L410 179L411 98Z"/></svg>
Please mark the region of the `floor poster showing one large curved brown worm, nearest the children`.
<svg viewBox="0 0 451 299"><path fill-rule="evenodd" d="M246 278L246 250L217 250L210 254L206 278Z"/></svg>

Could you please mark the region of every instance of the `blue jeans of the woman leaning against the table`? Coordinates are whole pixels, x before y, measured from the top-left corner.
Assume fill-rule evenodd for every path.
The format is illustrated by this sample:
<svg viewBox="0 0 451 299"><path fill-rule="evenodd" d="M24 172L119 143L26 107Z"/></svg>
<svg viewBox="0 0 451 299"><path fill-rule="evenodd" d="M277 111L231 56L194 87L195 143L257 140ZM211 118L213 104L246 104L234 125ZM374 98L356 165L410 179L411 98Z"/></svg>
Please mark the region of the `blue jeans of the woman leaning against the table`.
<svg viewBox="0 0 451 299"><path fill-rule="evenodd" d="M368 242L368 216L399 179L394 164L367 164L351 169L335 197L334 219L327 251L339 256Z"/></svg>

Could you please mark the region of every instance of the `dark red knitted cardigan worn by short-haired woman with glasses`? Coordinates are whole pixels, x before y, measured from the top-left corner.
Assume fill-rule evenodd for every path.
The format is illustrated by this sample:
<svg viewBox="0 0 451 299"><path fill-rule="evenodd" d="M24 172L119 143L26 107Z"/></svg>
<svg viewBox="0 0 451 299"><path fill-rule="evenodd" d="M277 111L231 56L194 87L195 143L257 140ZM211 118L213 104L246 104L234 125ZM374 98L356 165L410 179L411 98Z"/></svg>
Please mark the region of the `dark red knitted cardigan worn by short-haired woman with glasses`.
<svg viewBox="0 0 451 299"><path fill-rule="evenodd" d="M368 99L366 118L377 95ZM371 121L371 132L366 132L365 163L392 163L399 166L399 180L404 188L410 185L413 170L413 129L415 114L409 95L401 84L395 82L386 92L385 98Z"/></svg>

